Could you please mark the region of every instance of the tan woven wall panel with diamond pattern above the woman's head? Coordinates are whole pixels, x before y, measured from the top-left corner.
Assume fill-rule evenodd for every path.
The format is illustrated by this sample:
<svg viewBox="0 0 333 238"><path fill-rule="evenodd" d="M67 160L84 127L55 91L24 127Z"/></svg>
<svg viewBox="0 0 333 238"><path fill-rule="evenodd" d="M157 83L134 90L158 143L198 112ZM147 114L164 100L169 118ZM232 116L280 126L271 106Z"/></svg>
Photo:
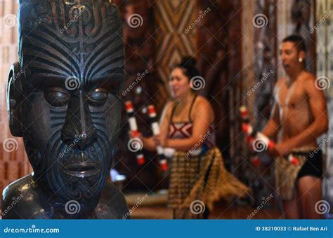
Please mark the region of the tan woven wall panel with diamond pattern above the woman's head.
<svg viewBox="0 0 333 238"><path fill-rule="evenodd" d="M168 0L155 1L156 24L155 64L159 76L167 82L171 67L181 61L181 57L195 55L196 29L187 29L197 17L195 1Z"/></svg>

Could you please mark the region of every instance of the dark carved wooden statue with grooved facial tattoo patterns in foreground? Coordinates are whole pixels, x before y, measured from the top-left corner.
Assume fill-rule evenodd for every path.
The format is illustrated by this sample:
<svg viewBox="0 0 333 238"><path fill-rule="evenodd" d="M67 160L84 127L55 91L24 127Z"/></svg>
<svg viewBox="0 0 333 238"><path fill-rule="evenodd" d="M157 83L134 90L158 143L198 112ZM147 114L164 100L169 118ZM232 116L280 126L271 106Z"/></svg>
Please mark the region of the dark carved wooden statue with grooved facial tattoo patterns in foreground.
<svg viewBox="0 0 333 238"><path fill-rule="evenodd" d="M8 79L11 133L34 173L11 183L3 218L122 218L106 182L120 123L122 21L108 1L20 1L19 62Z"/></svg>

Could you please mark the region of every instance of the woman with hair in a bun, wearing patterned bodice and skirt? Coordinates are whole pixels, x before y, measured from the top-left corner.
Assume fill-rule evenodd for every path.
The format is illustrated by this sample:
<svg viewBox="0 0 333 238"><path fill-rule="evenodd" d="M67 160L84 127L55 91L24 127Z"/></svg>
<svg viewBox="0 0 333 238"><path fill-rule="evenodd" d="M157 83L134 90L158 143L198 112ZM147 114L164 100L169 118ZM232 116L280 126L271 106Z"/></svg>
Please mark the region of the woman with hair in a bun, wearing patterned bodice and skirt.
<svg viewBox="0 0 333 238"><path fill-rule="evenodd" d="M161 134L139 136L149 151L156 151L157 146L176 151L170 167L169 207L178 219L208 218L214 201L249 193L223 165L214 141L214 111L207 99L196 93L195 86L200 83L196 80L203 78L195 59L187 57L171 72L172 99L162 113Z"/></svg>

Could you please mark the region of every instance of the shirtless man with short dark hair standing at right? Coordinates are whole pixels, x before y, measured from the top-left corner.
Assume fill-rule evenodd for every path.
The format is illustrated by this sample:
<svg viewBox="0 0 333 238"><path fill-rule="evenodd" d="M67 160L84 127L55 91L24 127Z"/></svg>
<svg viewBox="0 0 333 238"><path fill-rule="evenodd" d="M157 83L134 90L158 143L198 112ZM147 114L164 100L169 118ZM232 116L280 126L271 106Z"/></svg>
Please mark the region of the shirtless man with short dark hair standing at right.
<svg viewBox="0 0 333 238"><path fill-rule="evenodd" d="M327 132L325 95L315 76L305 70L306 49L299 36L288 36L280 49L287 78L275 85L275 104L263 134L280 143L270 149L275 160L277 190L282 197L285 218L322 218L315 203L322 200L322 156L316 138ZM315 85L317 83L317 85ZM286 160L292 154L299 165Z"/></svg>

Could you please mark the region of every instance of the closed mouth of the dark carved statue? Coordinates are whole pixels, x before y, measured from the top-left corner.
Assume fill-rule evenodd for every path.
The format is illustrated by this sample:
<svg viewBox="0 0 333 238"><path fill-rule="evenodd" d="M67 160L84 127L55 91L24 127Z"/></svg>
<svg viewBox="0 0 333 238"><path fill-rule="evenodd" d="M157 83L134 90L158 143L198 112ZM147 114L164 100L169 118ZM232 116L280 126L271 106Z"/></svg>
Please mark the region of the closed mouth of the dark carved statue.
<svg viewBox="0 0 333 238"><path fill-rule="evenodd" d="M85 178L98 174L100 169L98 164L93 162L71 162L65 165L64 172L70 176Z"/></svg>

